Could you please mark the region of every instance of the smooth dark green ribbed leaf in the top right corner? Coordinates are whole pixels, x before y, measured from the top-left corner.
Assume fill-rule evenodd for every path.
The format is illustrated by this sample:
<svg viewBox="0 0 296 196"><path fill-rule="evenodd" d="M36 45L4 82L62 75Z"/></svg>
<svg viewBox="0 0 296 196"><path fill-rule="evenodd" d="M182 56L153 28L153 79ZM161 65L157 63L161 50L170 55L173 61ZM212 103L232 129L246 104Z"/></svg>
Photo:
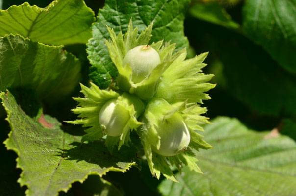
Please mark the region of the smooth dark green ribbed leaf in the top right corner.
<svg viewBox="0 0 296 196"><path fill-rule="evenodd" d="M296 73L296 0L247 0L243 27L273 59Z"/></svg>

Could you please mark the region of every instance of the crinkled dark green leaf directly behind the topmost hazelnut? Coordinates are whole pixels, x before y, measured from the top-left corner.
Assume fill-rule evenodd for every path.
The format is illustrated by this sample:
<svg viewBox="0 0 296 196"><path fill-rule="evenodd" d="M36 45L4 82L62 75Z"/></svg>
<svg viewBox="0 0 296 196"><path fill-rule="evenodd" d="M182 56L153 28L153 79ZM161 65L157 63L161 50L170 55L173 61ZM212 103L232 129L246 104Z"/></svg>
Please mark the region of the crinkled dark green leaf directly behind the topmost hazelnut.
<svg viewBox="0 0 296 196"><path fill-rule="evenodd" d="M116 35L120 31L125 33L132 18L140 34L153 22L151 43L162 39L165 42L172 40L172 43L177 43L176 50L179 50L188 47L183 26L187 5L188 0L106 0L104 8L99 10L97 22L93 24L92 38L87 48L93 82L105 89L116 80L118 74L104 41L110 39L106 25L113 28Z"/></svg>

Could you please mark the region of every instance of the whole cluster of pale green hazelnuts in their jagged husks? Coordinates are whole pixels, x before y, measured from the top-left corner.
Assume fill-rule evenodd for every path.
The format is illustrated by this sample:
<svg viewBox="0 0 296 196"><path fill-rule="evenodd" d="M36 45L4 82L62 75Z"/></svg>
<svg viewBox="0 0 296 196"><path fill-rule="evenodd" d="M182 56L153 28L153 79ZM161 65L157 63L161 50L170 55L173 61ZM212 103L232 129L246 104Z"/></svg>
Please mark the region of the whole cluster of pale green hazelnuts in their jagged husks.
<svg viewBox="0 0 296 196"><path fill-rule="evenodd" d="M68 123L90 127L82 141L99 140L106 133L106 145L111 153L115 145L119 144L120 149L123 144L128 144L130 129L135 129L144 146L152 175L159 179L160 173L163 173L168 179L175 181L166 161L167 156L172 157L169 158L170 164L179 170L183 163L189 165L191 170L201 172L195 163L197 159L194 158L192 149L212 148L196 132L202 130L197 123L208 123L208 118L200 116L206 109L195 102L202 103L202 99L208 99L204 92L215 85L205 83L212 75L200 73L200 68L205 66L202 63L205 55L184 61L186 50L173 53L175 44L162 45L163 41L158 41L149 46L151 29L152 25L149 25L137 38L137 28L133 29L132 20L124 36L122 32L116 36L114 31L108 28L112 41L106 41L106 44L119 72L118 82L113 88L118 86L121 91L102 91L95 84L92 84L90 89L81 86L86 99L74 98L79 105L73 111L80 114L82 119ZM176 72L176 69L178 73L170 73ZM161 77L164 79L159 82ZM174 86L160 88L162 92L157 94L159 86L167 85L163 81L172 79L176 82ZM191 80L193 85L186 86L184 80ZM179 89L179 86L182 89ZM120 96L122 91L126 92ZM152 98L155 93L158 98ZM179 94L178 99L174 93ZM113 98L112 95L118 97ZM117 100L128 104L120 105L121 101ZM138 117L139 120L136 120ZM131 123L128 123L129 121ZM153 155L152 150L158 155Z"/></svg>

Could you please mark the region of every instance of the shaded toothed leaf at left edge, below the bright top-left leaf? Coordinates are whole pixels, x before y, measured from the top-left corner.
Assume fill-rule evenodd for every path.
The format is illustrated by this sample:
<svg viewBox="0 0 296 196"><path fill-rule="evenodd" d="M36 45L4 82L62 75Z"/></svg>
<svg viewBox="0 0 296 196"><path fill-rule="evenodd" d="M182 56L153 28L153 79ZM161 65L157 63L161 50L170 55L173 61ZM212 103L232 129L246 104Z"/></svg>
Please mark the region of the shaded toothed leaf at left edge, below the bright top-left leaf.
<svg viewBox="0 0 296 196"><path fill-rule="evenodd" d="M80 77L80 62L62 46L48 46L20 35L0 37L0 91L34 89L40 98L69 94Z"/></svg>

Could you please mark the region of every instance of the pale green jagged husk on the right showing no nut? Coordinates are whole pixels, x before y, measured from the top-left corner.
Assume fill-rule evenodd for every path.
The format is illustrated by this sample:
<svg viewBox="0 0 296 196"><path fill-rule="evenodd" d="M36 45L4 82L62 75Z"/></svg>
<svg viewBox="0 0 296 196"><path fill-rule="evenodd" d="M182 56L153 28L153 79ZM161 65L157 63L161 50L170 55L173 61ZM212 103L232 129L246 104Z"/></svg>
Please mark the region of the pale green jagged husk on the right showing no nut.
<svg viewBox="0 0 296 196"><path fill-rule="evenodd" d="M204 92L214 88L215 84L207 83L214 75L202 73L203 63L208 52L186 58L186 50L181 50L170 67L162 74L154 97L163 98L169 103L183 102L200 103L210 99Z"/></svg>

